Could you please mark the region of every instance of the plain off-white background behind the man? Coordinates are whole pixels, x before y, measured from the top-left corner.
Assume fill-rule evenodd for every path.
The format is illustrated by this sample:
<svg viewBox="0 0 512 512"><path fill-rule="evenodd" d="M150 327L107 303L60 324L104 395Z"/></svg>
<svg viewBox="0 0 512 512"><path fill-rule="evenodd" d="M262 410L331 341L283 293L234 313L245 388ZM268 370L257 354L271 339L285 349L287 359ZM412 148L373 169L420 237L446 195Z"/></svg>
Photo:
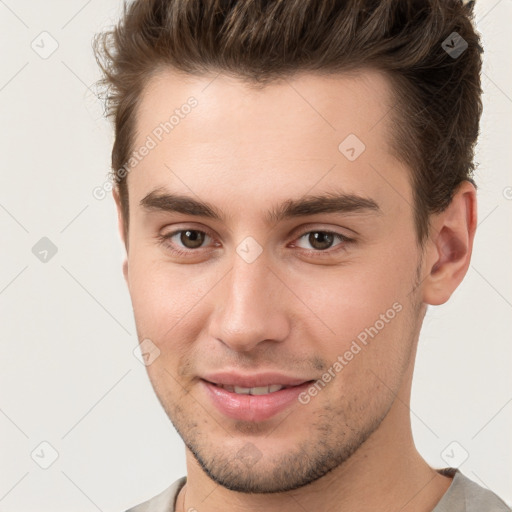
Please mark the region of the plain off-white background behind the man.
<svg viewBox="0 0 512 512"><path fill-rule="evenodd" d="M185 474L181 439L133 353L114 203L92 195L113 135L91 40L120 9L0 0L1 511L122 511ZM476 11L479 227L466 279L425 320L411 416L432 466L460 463L510 505L512 1Z"/></svg>

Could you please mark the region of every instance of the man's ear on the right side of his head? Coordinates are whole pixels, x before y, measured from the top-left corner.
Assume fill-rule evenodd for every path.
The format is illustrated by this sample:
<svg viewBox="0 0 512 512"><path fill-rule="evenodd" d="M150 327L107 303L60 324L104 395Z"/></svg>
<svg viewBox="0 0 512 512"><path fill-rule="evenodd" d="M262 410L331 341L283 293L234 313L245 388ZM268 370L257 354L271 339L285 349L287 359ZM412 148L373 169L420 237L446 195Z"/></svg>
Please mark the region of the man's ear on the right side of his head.
<svg viewBox="0 0 512 512"><path fill-rule="evenodd" d="M425 249L423 302L444 304L466 275L477 223L476 189L469 181L457 188L449 206L431 217Z"/></svg>

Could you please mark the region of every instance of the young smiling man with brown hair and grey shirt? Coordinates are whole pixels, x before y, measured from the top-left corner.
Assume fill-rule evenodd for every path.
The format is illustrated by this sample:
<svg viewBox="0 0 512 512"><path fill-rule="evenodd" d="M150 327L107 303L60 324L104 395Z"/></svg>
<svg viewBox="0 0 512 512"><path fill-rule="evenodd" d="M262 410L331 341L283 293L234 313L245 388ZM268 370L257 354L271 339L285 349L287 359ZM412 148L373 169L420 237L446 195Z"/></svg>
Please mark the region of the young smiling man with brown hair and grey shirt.
<svg viewBox="0 0 512 512"><path fill-rule="evenodd" d="M509 510L410 425L476 229L471 8L135 1L95 51L138 338L186 445L131 511Z"/></svg>

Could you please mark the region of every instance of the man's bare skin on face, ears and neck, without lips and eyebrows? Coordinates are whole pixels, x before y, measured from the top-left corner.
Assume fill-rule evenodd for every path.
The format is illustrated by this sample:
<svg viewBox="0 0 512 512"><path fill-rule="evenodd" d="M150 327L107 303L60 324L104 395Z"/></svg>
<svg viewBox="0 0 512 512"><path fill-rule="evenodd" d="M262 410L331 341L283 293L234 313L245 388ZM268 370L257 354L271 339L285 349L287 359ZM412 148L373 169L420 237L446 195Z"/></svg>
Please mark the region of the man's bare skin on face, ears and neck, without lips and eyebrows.
<svg viewBox="0 0 512 512"><path fill-rule="evenodd" d="M198 105L128 175L123 265L139 340L160 350L149 378L186 445L176 510L431 511L451 479L414 446L414 359L427 305L446 302L468 269L474 187L464 182L432 216L421 248L411 171L390 152L390 85L375 71L257 89L162 70L142 96L135 146L190 96ZM366 145L353 162L338 150L350 133ZM208 201L225 218L144 209L159 188ZM332 190L380 211L265 222L271 206ZM178 229L211 235L200 248L180 234L159 243ZM322 251L308 235L325 229L353 242L334 238ZM248 236L263 249L251 263L236 252ZM223 369L321 379L394 303L401 311L307 404L242 422L202 389L201 375Z"/></svg>

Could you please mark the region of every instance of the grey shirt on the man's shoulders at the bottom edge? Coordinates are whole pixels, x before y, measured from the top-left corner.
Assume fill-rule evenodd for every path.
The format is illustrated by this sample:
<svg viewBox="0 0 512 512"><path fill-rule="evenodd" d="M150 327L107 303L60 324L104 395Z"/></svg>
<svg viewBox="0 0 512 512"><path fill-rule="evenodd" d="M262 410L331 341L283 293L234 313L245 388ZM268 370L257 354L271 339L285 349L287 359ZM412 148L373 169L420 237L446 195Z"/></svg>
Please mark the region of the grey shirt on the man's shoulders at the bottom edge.
<svg viewBox="0 0 512 512"><path fill-rule="evenodd" d="M432 512L511 512L496 494L484 489L464 476L458 469L439 469L440 473L453 476L450 487ZM187 477L176 480L170 487L126 512L175 512L176 498Z"/></svg>

